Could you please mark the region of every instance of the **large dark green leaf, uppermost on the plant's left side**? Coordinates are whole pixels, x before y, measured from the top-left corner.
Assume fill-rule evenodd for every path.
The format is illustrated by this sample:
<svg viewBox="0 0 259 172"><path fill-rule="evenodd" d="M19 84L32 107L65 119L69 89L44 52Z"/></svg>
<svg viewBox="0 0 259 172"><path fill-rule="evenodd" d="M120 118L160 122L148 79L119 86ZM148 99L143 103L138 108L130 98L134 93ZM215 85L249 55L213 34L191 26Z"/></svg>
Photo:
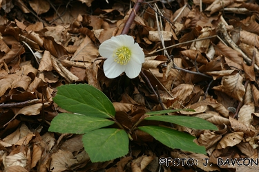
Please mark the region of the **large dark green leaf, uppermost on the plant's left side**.
<svg viewBox="0 0 259 172"><path fill-rule="evenodd" d="M113 104L105 94L87 84L57 87L57 96L53 100L59 107L77 114L99 118L115 116Z"/></svg>

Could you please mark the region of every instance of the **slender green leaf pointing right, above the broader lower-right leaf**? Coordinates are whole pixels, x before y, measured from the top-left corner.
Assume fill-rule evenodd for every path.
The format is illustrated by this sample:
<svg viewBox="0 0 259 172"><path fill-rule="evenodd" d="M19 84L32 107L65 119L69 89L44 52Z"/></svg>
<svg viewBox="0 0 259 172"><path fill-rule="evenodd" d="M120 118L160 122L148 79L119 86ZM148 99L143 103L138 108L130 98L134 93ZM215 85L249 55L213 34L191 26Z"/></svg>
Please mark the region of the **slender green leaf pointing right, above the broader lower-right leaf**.
<svg viewBox="0 0 259 172"><path fill-rule="evenodd" d="M184 127L192 129L213 129L218 130L218 127L213 125L211 122L202 118L193 116L149 116L145 120L159 120L164 122L171 122Z"/></svg>

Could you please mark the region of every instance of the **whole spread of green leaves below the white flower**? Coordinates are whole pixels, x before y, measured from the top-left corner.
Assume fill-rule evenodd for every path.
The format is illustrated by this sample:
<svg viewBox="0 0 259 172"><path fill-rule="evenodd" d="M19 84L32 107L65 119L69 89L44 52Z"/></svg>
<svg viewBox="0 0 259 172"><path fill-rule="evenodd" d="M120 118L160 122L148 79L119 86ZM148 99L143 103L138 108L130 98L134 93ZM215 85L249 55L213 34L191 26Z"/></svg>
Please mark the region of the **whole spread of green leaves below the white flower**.
<svg viewBox="0 0 259 172"><path fill-rule="evenodd" d="M51 122L49 131L84 134L82 142L92 162L113 160L128 153L131 135L127 132L128 129L124 129L117 122L113 104L102 92L86 84L62 85L57 90L57 95L53 98L55 103L74 114L62 113L56 116ZM148 112L130 130L140 129L173 149L206 154L205 148L195 144L193 142L195 137L188 133L160 126L137 127L143 120L157 120L193 129L218 129L201 118L160 115L180 110L183 109ZM185 110L191 111L191 109ZM113 124L117 124L119 129L103 128Z"/></svg>

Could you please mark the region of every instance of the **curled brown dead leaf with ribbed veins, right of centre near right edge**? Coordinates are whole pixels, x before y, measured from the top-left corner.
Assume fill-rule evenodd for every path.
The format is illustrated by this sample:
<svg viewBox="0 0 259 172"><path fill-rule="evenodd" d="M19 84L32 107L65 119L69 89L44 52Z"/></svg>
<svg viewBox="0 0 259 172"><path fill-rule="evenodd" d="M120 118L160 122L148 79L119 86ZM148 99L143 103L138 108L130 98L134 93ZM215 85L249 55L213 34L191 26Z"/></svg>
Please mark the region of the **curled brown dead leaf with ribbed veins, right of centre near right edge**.
<svg viewBox="0 0 259 172"><path fill-rule="evenodd" d="M242 101L245 93L244 85L242 85L242 76L238 73L232 76L223 76L221 85L215 86L213 89L224 92L239 101Z"/></svg>

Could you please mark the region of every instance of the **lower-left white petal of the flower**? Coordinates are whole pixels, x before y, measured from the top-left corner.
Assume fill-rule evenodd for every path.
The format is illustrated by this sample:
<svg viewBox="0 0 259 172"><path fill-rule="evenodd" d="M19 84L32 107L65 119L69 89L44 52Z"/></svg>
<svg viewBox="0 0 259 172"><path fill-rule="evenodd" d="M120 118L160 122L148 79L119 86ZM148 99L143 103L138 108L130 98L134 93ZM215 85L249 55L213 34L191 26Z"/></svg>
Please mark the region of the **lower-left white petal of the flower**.
<svg viewBox="0 0 259 172"><path fill-rule="evenodd" d="M104 61L104 74L107 78L116 78L125 71L126 65L120 65L113 58Z"/></svg>

